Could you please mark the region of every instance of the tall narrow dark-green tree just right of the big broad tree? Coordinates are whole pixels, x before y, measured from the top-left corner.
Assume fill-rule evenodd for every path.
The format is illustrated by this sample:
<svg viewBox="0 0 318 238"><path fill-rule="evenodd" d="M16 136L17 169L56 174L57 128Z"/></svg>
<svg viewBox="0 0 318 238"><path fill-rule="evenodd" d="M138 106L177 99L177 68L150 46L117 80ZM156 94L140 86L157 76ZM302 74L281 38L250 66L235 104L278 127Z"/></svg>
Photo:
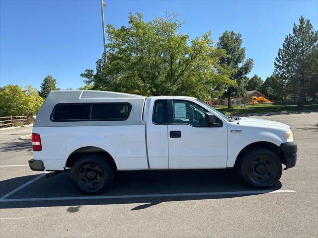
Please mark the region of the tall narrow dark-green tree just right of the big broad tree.
<svg viewBox="0 0 318 238"><path fill-rule="evenodd" d="M227 68L230 72L230 79L233 84L228 86L224 96L228 98L228 108L231 108L231 97L245 96L247 94L246 75L253 67L253 60L245 60L245 48L241 47L242 36L234 31L225 31L219 37L217 47L224 49L227 53L226 57L220 58L220 65Z"/></svg>

